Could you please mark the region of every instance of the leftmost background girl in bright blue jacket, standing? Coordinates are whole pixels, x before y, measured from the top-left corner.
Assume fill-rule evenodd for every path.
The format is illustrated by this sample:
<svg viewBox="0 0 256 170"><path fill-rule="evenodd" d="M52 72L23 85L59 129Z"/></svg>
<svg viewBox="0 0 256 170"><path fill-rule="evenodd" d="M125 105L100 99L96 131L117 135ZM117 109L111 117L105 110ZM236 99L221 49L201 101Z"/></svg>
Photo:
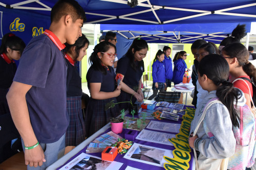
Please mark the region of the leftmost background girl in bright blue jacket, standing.
<svg viewBox="0 0 256 170"><path fill-rule="evenodd" d="M154 63L152 65L152 77L153 77L153 94L148 98L148 100L152 100L159 91L164 91L166 87L165 83L165 69L164 69L164 52L158 50L156 57L154 59Z"/></svg>

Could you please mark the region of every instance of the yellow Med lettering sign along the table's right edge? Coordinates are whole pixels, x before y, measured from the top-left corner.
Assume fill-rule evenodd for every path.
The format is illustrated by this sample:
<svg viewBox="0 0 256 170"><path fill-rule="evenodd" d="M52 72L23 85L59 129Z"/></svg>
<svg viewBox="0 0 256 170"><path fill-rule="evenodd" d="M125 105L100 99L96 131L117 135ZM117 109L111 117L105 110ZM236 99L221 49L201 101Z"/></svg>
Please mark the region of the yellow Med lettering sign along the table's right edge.
<svg viewBox="0 0 256 170"><path fill-rule="evenodd" d="M173 150L174 158L164 156L163 158L168 162L164 163L163 167L169 169L182 169L187 170L189 168L190 152L191 149L188 144L188 136L190 131L191 121L195 116L195 109L186 108L186 113L183 115L183 121L181 123L180 132L175 138L169 139L174 144L175 150Z"/></svg>

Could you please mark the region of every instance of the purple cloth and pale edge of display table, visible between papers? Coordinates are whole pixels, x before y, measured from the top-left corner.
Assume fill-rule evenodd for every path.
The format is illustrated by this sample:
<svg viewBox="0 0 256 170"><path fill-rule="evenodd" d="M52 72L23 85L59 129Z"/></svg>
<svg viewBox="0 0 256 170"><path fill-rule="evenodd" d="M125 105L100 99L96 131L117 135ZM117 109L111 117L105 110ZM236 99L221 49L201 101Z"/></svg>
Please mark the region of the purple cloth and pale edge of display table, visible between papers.
<svg viewBox="0 0 256 170"><path fill-rule="evenodd" d="M184 106L184 109L186 107L190 107L190 106ZM126 115L126 116L132 116L132 115ZM136 116L138 117L138 116ZM180 121L173 121L173 120L168 120L168 119L162 119L162 120L156 120L155 121L161 121L161 122L166 122L166 123L174 123L174 124L181 124L181 120ZM146 130L150 130L147 129ZM101 128L99 131L97 131L95 134L93 134L92 136L90 136L89 138L87 138L86 140L84 140L82 143L80 143L76 148L74 148L72 151L70 151L68 154L66 154L65 156L61 157L60 159L58 159L56 162L54 162L52 165L50 165L47 169L59 169L59 167L65 165L68 162L71 162L77 155L79 155L82 152L86 152L86 147L89 145L90 142L92 142L95 138L97 138L98 136L100 136L101 134L107 133L111 131L111 127L110 127L110 123L105 125L103 128ZM130 129L123 129L123 132L118 134L121 137L124 137L124 134L126 132L129 132ZM159 132L163 132L163 131L159 131ZM139 131L138 131L139 134ZM177 134L177 133L171 133L171 134ZM165 150L175 150L175 147L173 145L166 145L166 144L159 144L159 143L153 143L153 142L148 142L148 141L142 141L142 140L138 140L135 139L134 140L135 143L139 143L139 144L143 144L143 145L147 145L150 147L156 147L159 149L165 149ZM169 142L169 141L168 141ZM92 156L97 156L97 157L101 157L101 153L91 153L89 155ZM121 166L120 169L126 169L127 166L131 166L133 168L139 168L139 169L164 169L164 167L160 167L160 166L155 166L155 165L151 165L151 164L146 164L146 163L142 163L142 162L138 162L138 161L133 161L133 160L129 160L129 159L125 159L123 158L125 154L120 155L118 154L117 157L115 158L114 161L116 162L121 162L123 163L123 165ZM194 169L194 154L193 152L189 153L190 155L190 161L188 162L188 169Z"/></svg>

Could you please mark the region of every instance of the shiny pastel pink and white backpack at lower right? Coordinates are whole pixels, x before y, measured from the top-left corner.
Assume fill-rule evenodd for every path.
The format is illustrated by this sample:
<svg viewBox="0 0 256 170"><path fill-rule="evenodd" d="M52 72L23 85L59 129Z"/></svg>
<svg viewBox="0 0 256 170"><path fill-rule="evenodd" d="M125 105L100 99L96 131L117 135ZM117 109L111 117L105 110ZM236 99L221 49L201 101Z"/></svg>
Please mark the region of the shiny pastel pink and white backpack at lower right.
<svg viewBox="0 0 256 170"><path fill-rule="evenodd" d="M218 100L215 98L215 100ZM236 150L233 156L228 159L228 169L245 169L254 164L256 156L255 145L255 118L247 105L237 106L240 113L239 127L233 127L234 138L236 138ZM212 137L205 122L203 121L204 131L207 136Z"/></svg>

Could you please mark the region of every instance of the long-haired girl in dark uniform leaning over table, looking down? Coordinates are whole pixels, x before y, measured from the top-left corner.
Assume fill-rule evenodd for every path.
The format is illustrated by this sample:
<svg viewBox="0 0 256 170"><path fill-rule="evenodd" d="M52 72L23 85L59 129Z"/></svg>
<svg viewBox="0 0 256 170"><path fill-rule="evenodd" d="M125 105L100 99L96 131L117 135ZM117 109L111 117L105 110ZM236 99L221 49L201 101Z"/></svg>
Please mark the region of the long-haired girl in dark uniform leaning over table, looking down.
<svg viewBox="0 0 256 170"><path fill-rule="evenodd" d="M135 38L127 53L118 60L116 74L121 74L122 88L118 96L118 102L131 100L135 103L142 102L144 95L141 91L141 77L144 72L143 58L146 57L148 45L145 40ZM130 104L121 103L120 109L129 108Z"/></svg>

